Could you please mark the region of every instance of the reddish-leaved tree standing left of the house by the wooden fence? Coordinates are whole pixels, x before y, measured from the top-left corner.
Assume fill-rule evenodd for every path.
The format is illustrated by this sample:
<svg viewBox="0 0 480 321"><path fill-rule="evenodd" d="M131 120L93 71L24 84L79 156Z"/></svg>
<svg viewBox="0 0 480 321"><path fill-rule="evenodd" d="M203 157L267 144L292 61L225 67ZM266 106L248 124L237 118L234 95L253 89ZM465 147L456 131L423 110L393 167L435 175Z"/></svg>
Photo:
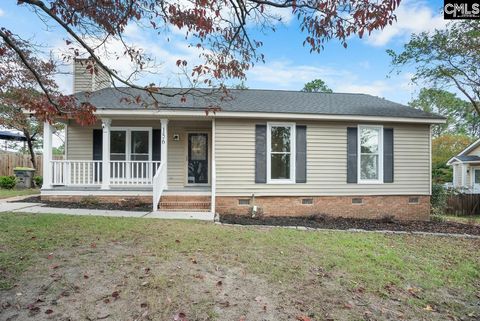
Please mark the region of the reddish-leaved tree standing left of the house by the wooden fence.
<svg viewBox="0 0 480 321"><path fill-rule="evenodd" d="M14 129L23 133L26 139L32 166L37 168L35 161L35 141L41 137L43 130L42 120L50 116L66 117L74 115L78 123L88 123L92 116L92 107L77 106L72 97L63 96L58 92L53 80L56 67L52 61L36 59L26 47L25 42L17 46L23 49L25 59L34 67L39 79L25 67L21 58L12 50L6 48L0 55L0 126ZM37 90L39 86L45 88L48 96ZM61 112L57 112L54 104ZM36 118L30 117L24 111L36 112ZM71 112L74 111L74 112ZM83 116L82 116L83 115ZM56 130L63 128L57 124Z"/></svg>

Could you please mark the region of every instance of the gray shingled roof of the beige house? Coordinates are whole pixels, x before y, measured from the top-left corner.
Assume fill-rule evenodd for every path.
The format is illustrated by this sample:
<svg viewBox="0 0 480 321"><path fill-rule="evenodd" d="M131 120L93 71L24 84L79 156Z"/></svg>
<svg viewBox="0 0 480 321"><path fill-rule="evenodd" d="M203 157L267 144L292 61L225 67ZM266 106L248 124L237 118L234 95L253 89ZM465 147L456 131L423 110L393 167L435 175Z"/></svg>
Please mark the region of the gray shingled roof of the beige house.
<svg viewBox="0 0 480 321"><path fill-rule="evenodd" d="M178 93L181 89L166 88L166 94ZM208 93L209 89L202 89L200 93ZM231 98L225 99L223 94L214 95L186 95L182 102L179 96L166 97L158 95L161 106L167 109L203 110L211 106L219 106L222 111L228 112L266 112L266 113L298 113L322 115L352 115L352 116L380 116L406 117L423 119L443 119L443 117L426 113L405 105L401 105L383 98L366 94L348 93L306 93L301 91L259 90L244 89L229 91ZM143 105L125 101L125 97L142 97ZM155 108L153 100L144 91L133 88L105 88L96 92L79 93L80 101L89 101L98 109L141 109ZM145 106L147 105L147 106Z"/></svg>

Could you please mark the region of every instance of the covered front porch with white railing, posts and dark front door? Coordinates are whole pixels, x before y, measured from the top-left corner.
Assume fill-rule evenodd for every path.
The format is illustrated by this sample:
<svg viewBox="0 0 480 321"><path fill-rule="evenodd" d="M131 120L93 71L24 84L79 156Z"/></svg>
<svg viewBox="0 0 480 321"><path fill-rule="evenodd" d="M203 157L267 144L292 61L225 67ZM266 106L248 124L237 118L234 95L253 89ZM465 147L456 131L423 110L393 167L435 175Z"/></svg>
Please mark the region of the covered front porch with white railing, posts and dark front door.
<svg viewBox="0 0 480 321"><path fill-rule="evenodd" d="M65 160L52 159L45 123L42 195L150 196L154 209L162 196L211 196L214 119L149 118L67 123Z"/></svg>

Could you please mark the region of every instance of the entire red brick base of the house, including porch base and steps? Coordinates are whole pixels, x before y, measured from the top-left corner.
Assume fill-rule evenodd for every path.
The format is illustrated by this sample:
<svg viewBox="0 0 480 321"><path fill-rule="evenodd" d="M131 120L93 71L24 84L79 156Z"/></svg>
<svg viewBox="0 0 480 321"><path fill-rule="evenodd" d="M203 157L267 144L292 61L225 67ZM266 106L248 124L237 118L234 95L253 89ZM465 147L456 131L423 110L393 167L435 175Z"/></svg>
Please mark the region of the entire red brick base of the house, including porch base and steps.
<svg viewBox="0 0 480 321"><path fill-rule="evenodd" d="M409 204L409 198L418 198L418 204ZM44 201L88 202L93 198L102 203L139 202L151 204L151 196L79 196L79 195L42 195ZM352 204L352 199L362 199L362 204ZM223 215L248 215L250 205L239 205L239 199L249 197L217 196L216 212ZM303 199L312 199L313 204L302 204ZM208 209L210 196L168 195L162 196L163 209L190 207ZM174 203L179 203L178 205ZM173 205L172 205L173 204ZM308 216L326 214L334 217L382 218L394 216L400 220L428 220L430 215L430 196L260 196L255 197L257 205L268 216Z"/></svg>

